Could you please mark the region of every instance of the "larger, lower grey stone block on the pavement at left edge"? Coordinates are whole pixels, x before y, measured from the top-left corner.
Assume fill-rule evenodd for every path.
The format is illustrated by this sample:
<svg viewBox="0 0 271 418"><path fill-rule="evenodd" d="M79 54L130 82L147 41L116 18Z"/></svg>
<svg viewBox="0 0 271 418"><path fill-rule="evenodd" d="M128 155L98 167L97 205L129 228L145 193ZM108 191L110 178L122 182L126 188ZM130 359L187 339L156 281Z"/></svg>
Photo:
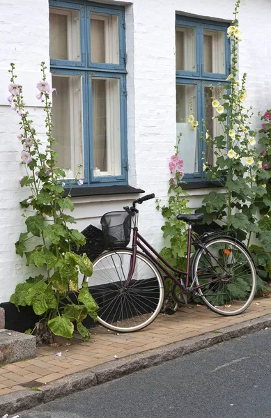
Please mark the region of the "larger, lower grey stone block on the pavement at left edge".
<svg viewBox="0 0 271 418"><path fill-rule="evenodd" d="M17 331L0 332L0 365L36 357L36 336Z"/></svg>

